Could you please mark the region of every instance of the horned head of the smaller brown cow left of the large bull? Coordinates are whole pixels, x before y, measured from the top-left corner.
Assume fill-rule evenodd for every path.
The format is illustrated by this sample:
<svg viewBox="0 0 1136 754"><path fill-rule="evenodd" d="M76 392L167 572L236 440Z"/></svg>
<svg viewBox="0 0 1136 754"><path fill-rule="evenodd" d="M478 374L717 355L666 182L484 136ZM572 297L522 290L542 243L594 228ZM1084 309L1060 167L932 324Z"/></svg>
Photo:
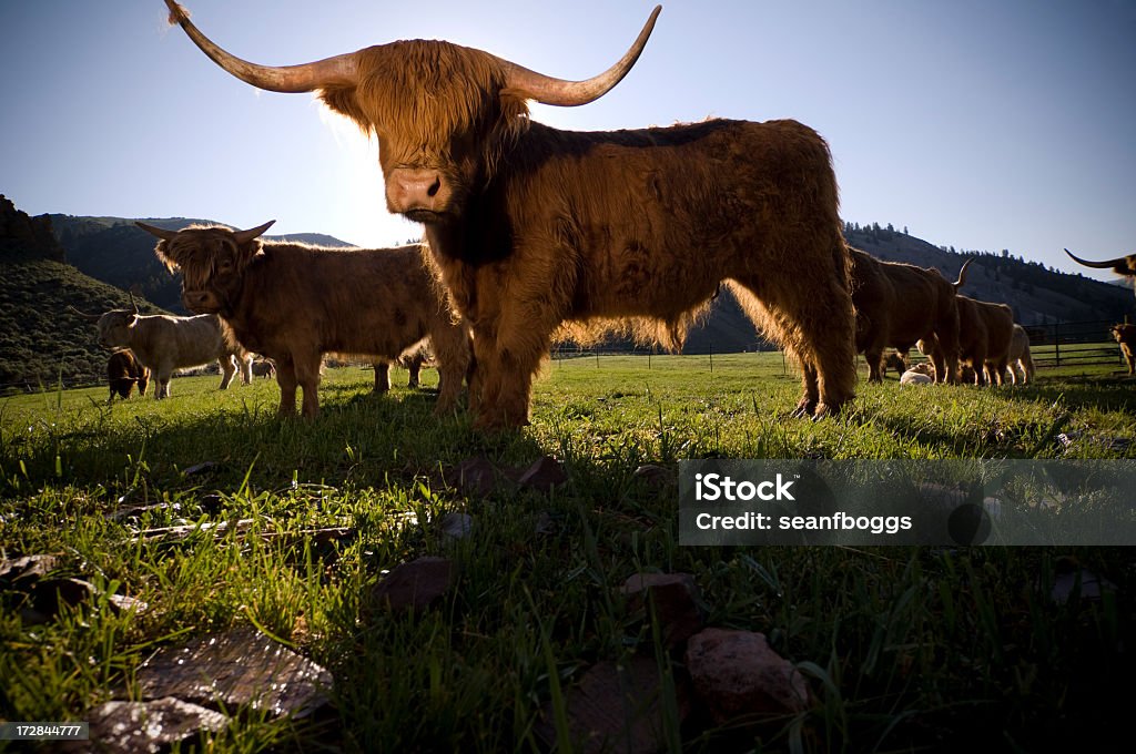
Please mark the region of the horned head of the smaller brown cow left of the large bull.
<svg viewBox="0 0 1136 754"><path fill-rule="evenodd" d="M154 248L170 271L182 273L182 303L195 315L231 316L241 294L244 270L260 252L258 236L275 220L251 231L189 227L161 231L137 225L161 241Z"/></svg>

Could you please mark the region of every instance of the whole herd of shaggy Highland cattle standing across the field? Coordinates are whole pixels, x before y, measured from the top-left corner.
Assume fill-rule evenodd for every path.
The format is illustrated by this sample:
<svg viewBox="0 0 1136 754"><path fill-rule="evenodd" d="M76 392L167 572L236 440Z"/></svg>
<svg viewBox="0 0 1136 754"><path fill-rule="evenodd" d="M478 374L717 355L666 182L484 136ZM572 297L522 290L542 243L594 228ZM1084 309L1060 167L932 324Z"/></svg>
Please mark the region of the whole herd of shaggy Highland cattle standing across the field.
<svg viewBox="0 0 1136 754"><path fill-rule="evenodd" d="M424 238L349 251L262 241L272 223L143 225L199 316L147 317L135 307L102 315L99 332L154 371L158 397L173 369L191 362L218 359L222 387L237 363L251 379L254 351L275 363L279 412L295 412L299 386L311 417L323 354L370 355L382 389L386 365L428 338L438 411L453 408L466 382L475 427L523 425L533 376L561 327L620 320L676 346L722 283L799 365L799 416L836 412L853 397L857 353L869 379L882 380L891 347L905 368L918 345L937 383L1001 385L1011 362L1031 377L1028 337L1010 308L959 293L966 266L952 283L846 245L828 145L808 126L709 119L582 133L528 117L528 100L580 106L616 86L659 7L611 68L570 82L423 40L261 66L166 5L170 23L226 72L268 91L316 92L377 137L387 209L420 223ZM1117 268L1131 275L1133 262Z"/></svg>

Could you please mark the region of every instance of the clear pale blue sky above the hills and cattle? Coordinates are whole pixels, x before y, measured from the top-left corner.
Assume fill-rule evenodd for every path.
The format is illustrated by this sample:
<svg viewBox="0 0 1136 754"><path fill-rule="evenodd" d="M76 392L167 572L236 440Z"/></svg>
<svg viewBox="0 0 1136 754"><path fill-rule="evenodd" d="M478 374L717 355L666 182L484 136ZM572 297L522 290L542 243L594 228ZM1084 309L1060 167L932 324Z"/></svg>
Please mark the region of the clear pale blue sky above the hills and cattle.
<svg viewBox="0 0 1136 754"><path fill-rule="evenodd" d="M653 0L186 0L231 52L286 65L445 39L582 78ZM0 192L37 215L204 217L365 245L387 215L374 148L310 94L217 68L160 0L0 0ZM1060 269L1136 251L1136 2L667 0L601 100L563 128L795 118L829 142L842 216ZM1108 278L1106 274L1097 277Z"/></svg>

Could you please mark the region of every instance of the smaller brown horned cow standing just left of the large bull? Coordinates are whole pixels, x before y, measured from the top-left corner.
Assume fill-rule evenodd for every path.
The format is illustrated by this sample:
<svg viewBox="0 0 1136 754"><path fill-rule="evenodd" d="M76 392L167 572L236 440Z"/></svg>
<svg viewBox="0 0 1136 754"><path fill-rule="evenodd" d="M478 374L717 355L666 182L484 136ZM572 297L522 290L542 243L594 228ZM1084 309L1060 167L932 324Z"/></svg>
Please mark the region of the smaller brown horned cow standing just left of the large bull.
<svg viewBox="0 0 1136 754"><path fill-rule="evenodd" d="M185 305L220 315L242 343L276 363L281 414L295 413L296 386L303 388L303 416L319 412L324 353L393 360L427 336L445 375L436 409L452 410L469 366L469 334L424 250L260 241L268 225L240 232L143 227L162 238L158 258L181 269Z"/></svg>

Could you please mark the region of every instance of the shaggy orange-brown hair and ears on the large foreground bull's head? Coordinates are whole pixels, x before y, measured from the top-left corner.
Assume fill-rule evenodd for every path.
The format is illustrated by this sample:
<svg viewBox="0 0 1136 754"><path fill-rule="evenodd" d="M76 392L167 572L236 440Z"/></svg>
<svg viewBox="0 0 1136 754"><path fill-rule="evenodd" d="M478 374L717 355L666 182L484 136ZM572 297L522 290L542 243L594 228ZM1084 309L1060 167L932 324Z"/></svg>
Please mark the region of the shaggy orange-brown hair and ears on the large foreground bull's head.
<svg viewBox="0 0 1136 754"><path fill-rule="evenodd" d="M504 87L501 62L487 52L411 40L357 55L359 85L324 89L319 97L366 135L392 134L418 149L417 154L389 156L395 161L460 153L485 144L479 158L488 178L502 154L528 128L527 100ZM463 135L474 135L475 141L453 143L454 136Z"/></svg>

